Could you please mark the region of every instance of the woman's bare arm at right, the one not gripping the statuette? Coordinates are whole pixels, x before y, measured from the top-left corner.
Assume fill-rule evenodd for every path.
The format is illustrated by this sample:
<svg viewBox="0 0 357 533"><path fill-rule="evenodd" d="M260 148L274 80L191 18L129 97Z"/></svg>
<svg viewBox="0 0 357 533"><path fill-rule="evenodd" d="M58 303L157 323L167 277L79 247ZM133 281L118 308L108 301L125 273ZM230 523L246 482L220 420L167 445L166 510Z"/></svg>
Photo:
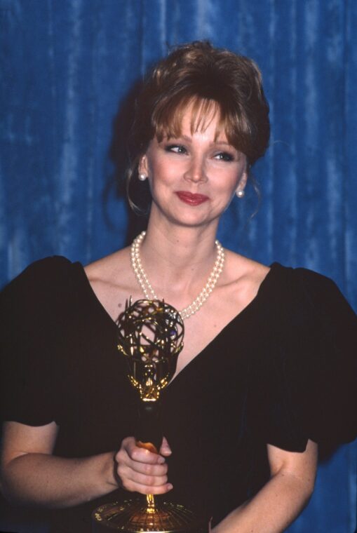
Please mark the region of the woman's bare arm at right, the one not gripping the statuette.
<svg viewBox="0 0 357 533"><path fill-rule="evenodd" d="M214 533L281 533L299 515L314 490L317 445L303 453L268 445L271 478L250 501L232 511Z"/></svg>

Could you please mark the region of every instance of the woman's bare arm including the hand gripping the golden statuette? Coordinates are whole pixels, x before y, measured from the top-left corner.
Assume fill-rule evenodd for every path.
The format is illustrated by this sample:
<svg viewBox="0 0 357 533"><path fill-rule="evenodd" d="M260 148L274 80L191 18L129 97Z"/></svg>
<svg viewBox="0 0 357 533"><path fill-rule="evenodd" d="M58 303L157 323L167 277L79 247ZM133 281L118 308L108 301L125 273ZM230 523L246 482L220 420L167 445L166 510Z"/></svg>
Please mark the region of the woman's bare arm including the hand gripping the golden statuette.
<svg viewBox="0 0 357 533"><path fill-rule="evenodd" d="M4 424L0 479L6 499L20 505L61 508L82 504L119 486L151 494L170 490L162 455L137 448L133 437L124 439L116 454L65 459L52 455L57 433L55 422L36 427L14 421ZM168 454L165 447L161 454Z"/></svg>

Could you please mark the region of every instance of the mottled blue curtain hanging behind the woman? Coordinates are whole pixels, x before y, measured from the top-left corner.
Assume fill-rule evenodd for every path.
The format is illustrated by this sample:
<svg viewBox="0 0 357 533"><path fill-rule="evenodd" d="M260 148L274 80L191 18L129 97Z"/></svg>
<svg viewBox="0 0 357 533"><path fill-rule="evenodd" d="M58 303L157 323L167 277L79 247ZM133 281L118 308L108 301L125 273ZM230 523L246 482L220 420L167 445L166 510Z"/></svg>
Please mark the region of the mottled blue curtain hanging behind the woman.
<svg viewBox="0 0 357 533"><path fill-rule="evenodd" d="M168 46L210 39L260 65L272 137L225 246L320 271L357 308L357 2L0 0L0 283L46 255L88 263L143 222L128 214L123 104ZM351 533L356 445L321 465L290 532Z"/></svg>

